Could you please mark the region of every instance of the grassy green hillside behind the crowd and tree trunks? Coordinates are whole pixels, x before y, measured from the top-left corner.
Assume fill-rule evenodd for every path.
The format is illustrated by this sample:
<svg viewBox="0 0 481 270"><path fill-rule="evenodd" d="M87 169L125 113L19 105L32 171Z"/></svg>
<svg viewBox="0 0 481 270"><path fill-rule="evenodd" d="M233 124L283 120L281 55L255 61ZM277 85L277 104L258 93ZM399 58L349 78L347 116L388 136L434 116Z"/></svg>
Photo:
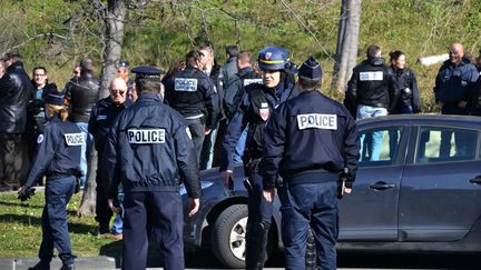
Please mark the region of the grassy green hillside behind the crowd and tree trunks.
<svg viewBox="0 0 481 270"><path fill-rule="evenodd" d="M151 1L141 10L127 12L122 58L132 66L156 64L167 70L199 42L212 43L220 63L226 60L226 44L238 44L254 56L266 46L284 46L297 63L308 56L318 58L325 73L325 91L342 99L342 94L327 89L340 4L341 0ZM101 59L105 29L97 14L88 0L0 1L0 41L10 41L0 42L0 52L36 33L52 31L66 37L43 37L18 48L28 70L43 64L50 71L50 80L63 86L75 61L85 56ZM73 29L71 22L78 22ZM365 0L359 61L371 43L380 44L386 58L392 50L404 51L408 66L418 74L423 110L434 111L432 88L440 64L423 67L416 59L445 53L454 41L477 54L480 37L478 0Z"/></svg>

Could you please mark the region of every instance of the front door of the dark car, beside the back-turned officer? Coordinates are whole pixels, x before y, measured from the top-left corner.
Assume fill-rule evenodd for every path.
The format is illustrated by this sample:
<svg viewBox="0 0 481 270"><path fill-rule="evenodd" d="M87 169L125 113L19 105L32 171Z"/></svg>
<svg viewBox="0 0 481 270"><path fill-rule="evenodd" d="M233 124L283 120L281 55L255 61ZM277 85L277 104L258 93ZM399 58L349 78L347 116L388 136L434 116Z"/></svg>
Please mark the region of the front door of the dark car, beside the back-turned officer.
<svg viewBox="0 0 481 270"><path fill-rule="evenodd" d="M360 127L364 146L356 180L352 193L340 202L341 242L397 240L399 190L409 131L409 126ZM380 134L381 154L370 157L370 141Z"/></svg>

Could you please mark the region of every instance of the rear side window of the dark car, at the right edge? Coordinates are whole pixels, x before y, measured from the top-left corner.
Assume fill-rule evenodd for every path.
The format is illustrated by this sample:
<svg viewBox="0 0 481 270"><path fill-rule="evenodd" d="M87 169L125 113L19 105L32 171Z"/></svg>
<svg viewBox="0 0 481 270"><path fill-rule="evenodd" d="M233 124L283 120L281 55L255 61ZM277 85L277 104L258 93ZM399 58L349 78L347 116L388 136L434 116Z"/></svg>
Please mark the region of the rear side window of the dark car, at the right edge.
<svg viewBox="0 0 481 270"><path fill-rule="evenodd" d="M458 128L422 127L418 136L416 163L475 159L478 132Z"/></svg>

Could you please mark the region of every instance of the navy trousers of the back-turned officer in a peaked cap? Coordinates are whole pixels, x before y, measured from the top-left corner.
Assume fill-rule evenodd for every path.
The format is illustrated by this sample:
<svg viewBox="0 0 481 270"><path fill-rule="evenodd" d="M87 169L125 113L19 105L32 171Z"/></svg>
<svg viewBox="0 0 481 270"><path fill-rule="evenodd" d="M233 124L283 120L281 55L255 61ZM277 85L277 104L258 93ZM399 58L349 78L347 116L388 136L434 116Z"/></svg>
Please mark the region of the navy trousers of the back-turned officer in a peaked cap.
<svg viewBox="0 0 481 270"><path fill-rule="evenodd" d="M122 270L146 269L148 229L155 233L164 269L184 270L183 204L178 192L130 192L124 201Z"/></svg>

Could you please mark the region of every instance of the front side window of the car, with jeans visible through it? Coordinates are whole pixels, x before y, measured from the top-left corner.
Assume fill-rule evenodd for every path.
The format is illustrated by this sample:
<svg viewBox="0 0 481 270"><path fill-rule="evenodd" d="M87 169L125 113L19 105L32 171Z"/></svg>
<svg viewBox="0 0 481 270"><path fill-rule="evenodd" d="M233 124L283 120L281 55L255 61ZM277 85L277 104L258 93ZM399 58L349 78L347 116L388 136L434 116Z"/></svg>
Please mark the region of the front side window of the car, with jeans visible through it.
<svg viewBox="0 0 481 270"><path fill-rule="evenodd" d="M369 129L360 132L361 154L359 166L393 163L403 127Z"/></svg>

